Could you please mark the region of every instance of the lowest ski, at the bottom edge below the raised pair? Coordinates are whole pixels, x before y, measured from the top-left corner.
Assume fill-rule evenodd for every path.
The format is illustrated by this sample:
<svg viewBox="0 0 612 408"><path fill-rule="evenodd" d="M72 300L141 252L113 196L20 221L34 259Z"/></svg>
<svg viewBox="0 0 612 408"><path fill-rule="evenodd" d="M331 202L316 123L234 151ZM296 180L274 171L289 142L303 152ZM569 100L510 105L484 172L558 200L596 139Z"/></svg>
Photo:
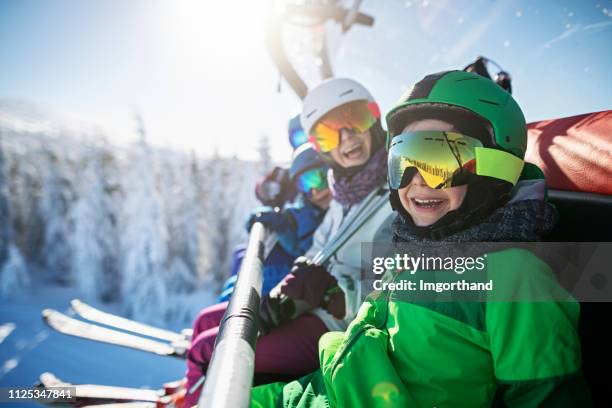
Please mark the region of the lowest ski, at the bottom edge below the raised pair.
<svg viewBox="0 0 612 408"><path fill-rule="evenodd" d="M72 401L61 399L49 402L48 405L65 406L125 406L125 407L168 407L172 405L168 389L147 390L142 388L116 387L98 384L72 384L62 381L54 374L46 372L40 375L36 384L39 389L53 389L56 387L73 387L75 395ZM127 404L127 405L125 405Z"/></svg>

